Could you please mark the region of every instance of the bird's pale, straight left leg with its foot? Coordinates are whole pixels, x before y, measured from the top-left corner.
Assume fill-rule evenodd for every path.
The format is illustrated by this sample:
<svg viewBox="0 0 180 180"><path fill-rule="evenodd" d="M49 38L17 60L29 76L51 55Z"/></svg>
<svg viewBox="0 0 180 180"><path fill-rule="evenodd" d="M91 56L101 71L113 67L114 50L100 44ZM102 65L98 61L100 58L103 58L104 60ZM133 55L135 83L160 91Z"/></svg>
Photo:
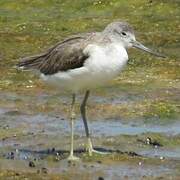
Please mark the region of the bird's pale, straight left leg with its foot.
<svg viewBox="0 0 180 180"><path fill-rule="evenodd" d="M72 98L72 104L71 104L71 111L70 111L70 126L71 126L71 147L70 147L70 155L68 157L68 160L70 161L74 161L74 160L78 160L79 158L73 155L73 141L74 141L74 120L75 120L75 112L74 112L74 105L75 105L75 98L76 95L73 94L73 98Z"/></svg>

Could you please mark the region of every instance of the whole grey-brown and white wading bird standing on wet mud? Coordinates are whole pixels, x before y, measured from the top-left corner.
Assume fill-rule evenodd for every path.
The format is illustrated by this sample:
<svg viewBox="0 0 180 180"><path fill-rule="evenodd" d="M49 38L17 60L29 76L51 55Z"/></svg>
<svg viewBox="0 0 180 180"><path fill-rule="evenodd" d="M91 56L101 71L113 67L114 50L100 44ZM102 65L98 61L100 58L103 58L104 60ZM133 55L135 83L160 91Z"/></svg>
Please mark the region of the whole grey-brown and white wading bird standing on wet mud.
<svg viewBox="0 0 180 180"><path fill-rule="evenodd" d="M93 147L89 131L86 104L90 91L105 86L119 76L128 62L129 48L137 48L164 58L157 51L147 48L135 38L133 27L125 21L114 21L101 32L72 35L41 54L21 58L17 67L38 72L47 84L72 94L70 106L70 153L68 160L78 160L74 155L74 120L77 93L84 92L80 112L87 138L87 152L103 154Z"/></svg>

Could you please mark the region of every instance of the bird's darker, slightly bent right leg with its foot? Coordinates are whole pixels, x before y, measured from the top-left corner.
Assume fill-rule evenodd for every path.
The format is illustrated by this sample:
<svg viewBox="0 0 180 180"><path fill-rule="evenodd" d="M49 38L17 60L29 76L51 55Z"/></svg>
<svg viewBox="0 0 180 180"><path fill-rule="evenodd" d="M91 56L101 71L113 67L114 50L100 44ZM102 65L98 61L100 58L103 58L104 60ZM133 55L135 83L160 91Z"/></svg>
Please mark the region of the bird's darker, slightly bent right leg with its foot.
<svg viewBox="0 0 180 180"><path fill-rule="evenodd" d="M89 93L90 93L89 90L86 91L84 99L81 104L81 108L80 108L81 116L82 116L84 127L85 127L86 137L87 137L87 150L88 150L89 156L92 156L92 153L107 154L106 152L100 152L100 151L96 151L93 149L93 145L92 145L92 141L91 141L91 137L90 137L90 133L89 133L89 128L88 128L88 124L87 124L87 118L86 118L86 103L87 103L87 99L89 97Z"/></svg>

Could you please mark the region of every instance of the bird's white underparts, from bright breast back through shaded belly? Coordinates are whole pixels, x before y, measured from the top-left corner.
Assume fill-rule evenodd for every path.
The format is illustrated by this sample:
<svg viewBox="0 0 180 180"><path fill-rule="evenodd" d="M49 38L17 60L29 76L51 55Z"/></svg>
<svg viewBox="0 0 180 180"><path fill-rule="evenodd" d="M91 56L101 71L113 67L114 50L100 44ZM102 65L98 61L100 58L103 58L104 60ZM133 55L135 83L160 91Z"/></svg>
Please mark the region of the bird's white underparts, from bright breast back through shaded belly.
<svg viewBox="0 0 180 180"><path fill-rule="evenodd" d="M126 50L120 44L106 47L89 45L84 53L90 57L84 66L54 75L41 75L42 79L61 89L79 91L106 84L116 77L128 60Z"/></svg>

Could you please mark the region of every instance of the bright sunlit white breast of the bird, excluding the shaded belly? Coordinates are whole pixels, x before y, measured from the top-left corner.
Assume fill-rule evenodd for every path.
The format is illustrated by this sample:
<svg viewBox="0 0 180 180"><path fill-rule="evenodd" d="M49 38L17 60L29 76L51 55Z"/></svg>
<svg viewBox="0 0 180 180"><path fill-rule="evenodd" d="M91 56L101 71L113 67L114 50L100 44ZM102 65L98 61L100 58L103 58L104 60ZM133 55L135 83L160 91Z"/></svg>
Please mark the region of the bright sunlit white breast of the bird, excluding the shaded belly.
<svg viewBox="0 0 180 180"><path fill-rule="evenodd" d="M89 45L84 52L90 55L85 67L92 74L108 75L110 79L120 72L128 60L127 52L120 44L105 47Z"/></svg>

